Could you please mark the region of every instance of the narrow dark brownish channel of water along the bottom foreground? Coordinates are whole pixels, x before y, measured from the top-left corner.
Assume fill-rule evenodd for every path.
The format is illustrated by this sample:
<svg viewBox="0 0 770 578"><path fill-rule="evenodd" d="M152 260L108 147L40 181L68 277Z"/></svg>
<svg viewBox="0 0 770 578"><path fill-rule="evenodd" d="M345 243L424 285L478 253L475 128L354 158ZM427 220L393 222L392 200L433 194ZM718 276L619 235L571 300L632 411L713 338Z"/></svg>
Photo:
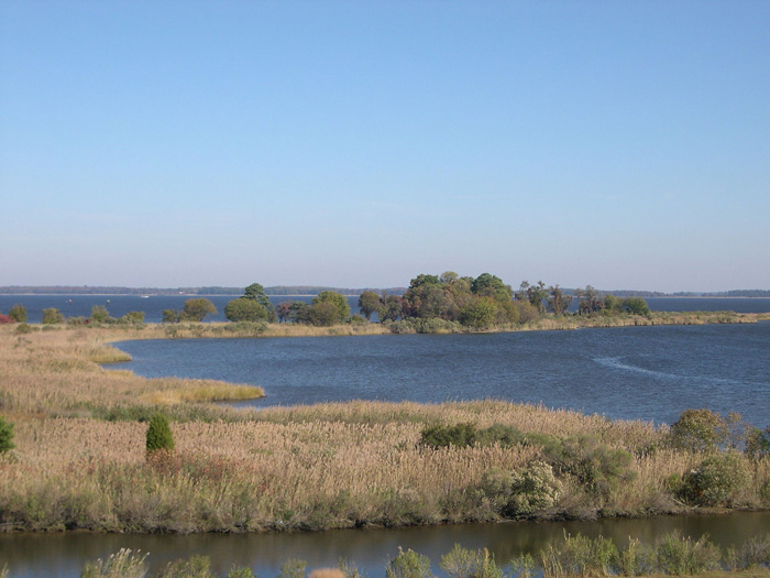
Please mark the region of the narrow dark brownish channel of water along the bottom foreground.
<svg viewBox="0 0 770 578"><path fill-rule="evenodd" d="M656 536L680 530L683 535L708 534L723 549L765 535L770 528L770 512L741 512L725 515L664 516L644 520L602 520L596 522L512 522L426 526L398 530L345 530L296 534L8 534L0 535L0 568L6 561L13 577L77 577L87 560L107 557L120 548L148 552L153 571L166 563L193 555L211 558L212 568L224 574L233 565L249 566L258 576L275 576L289 558L308 561L308 569L336 566L339 558L356 564L371 578L385 575L387 560L398 547L428 556L433 571L441 556L454 544L466 548L486 547L501 563L522 553L536 560L549 542L563 533L609 537L618 546L629 537L653 542Z"/></svg>

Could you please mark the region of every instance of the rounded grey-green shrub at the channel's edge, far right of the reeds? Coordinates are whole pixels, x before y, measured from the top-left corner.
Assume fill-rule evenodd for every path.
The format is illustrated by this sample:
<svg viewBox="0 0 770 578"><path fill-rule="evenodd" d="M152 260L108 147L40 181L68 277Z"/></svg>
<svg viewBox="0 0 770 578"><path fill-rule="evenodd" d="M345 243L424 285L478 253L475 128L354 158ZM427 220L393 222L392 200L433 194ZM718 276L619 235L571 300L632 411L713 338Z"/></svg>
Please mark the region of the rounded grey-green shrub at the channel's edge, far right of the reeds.
<svg viewBox="0 0 770 578"><path fill-rule="evenodd" d="M729 505L751 479L746 459L735 451L706 458L682 477L680 495L696 505Z"/></svg>

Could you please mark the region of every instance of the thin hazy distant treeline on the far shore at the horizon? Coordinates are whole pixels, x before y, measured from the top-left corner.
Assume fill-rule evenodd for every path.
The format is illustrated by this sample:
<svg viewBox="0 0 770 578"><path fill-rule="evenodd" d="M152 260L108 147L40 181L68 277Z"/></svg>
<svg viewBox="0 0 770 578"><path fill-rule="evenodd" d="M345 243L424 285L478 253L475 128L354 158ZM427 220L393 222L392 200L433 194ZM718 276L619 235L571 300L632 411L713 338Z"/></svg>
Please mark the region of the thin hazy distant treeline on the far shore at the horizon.
<svg viewBox="0 0 770 578"><path fill-rule="evenodd" d="M267 295L318 295L324 291L336 291L343 295L361 295L365 291L403 295L407 287L327 287L320 285L276 285L265 287ZM562 287L565 295L576 295L576 288ZM0 295L241 295L243 287L103 287L89 285L8 285L0 286ZM721 292L678 292L663 293L660 291L614 290L598 291L602 294L612 293L616 297L770 297L770 290L733 290Z"/></svg>

